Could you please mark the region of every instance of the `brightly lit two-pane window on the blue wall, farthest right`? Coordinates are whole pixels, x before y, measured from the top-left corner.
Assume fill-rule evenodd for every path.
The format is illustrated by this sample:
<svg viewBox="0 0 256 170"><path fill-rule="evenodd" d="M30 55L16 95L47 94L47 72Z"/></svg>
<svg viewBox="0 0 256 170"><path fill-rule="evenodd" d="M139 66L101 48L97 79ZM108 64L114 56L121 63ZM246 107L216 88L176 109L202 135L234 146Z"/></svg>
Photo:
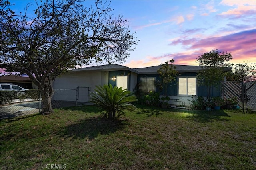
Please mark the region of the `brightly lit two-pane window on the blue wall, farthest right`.
<svg viewBox="0 0 256 170"><path fill-rule="evenodd" d="M196 95L196 78L179 77L178 95Z"/></svg>

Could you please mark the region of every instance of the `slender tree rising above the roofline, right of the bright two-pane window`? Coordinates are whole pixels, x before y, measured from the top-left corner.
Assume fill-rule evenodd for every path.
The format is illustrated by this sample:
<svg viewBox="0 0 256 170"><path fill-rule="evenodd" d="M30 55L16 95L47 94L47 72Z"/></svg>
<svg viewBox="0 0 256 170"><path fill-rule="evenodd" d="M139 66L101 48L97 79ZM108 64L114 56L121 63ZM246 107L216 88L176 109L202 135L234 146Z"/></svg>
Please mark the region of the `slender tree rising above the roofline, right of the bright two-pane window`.
<svg viewBox="0 0 256 170"><path fill-rule="evenodd" d="M196 61L201 66L202 70L197 74L198 85L205 85L208 87L207 98L210 101L210 91L212 86L218 87L224 78L223 68L228 66L226 62L232 59L231 53L222 54L216 50L204 53Z"/></svg>

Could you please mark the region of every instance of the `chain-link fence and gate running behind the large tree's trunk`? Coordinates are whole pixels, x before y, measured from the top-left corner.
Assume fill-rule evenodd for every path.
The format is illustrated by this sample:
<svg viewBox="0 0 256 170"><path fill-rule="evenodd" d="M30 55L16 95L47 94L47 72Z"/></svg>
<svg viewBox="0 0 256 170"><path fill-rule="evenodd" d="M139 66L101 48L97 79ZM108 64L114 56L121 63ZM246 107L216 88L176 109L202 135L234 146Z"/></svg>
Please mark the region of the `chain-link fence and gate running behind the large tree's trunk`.
<svg viewBox="0 0 256 170"><path fill-rule="evenodd" d="M52 108L77 106L89 102L90 87L72 89L55 89L52 97ZM39 90L30 89L24 92L0 92L0 119L40 113L44 106Z"/></svg>

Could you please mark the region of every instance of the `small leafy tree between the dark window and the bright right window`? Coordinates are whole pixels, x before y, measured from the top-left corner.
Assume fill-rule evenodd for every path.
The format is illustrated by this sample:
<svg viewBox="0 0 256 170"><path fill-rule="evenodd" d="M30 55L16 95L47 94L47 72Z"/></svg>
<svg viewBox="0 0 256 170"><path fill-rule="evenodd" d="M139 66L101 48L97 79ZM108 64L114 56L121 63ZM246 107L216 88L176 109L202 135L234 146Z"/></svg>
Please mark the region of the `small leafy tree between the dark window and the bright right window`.
<svg viewBox="0 0 256 170"><path fill-rule="evenodd" d="M156 81L156 85L161 91L164 90L164 96L166 96L168 84L176 81L176 76L178 75L178 71L175 70L176 66L173 63L174 59L166 61L157 70L160 80Z"/></svg>

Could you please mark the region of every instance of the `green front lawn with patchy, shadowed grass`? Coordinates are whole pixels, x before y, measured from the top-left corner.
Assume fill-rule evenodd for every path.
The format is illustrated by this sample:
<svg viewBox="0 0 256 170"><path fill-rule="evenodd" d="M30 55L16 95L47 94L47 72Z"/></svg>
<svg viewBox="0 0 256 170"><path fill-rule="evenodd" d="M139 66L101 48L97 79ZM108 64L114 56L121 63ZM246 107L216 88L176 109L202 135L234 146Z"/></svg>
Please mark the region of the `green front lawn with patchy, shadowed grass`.
<svg viewBox="0 0 256 170"><path fill-rule="evenodd" d="M1 120L1 169L256 169L256 114L95 106ZM48 165L49 167L49 165Z"/></svg>

